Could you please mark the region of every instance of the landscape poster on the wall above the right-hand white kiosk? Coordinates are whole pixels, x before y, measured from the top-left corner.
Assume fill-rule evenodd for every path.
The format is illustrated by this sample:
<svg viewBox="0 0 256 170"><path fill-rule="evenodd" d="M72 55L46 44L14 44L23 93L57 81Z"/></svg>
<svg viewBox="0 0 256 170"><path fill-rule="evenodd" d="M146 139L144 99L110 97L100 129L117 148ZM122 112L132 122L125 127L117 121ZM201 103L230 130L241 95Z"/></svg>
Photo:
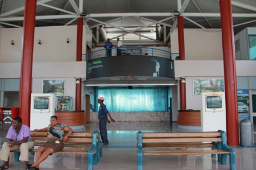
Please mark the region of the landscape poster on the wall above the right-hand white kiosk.
<svg viewBox="0 0 256 170"><path fill-rule="evenodd" d="M224 92L224 79L194 78L193 96L200 96L202 92Z"/></svg>

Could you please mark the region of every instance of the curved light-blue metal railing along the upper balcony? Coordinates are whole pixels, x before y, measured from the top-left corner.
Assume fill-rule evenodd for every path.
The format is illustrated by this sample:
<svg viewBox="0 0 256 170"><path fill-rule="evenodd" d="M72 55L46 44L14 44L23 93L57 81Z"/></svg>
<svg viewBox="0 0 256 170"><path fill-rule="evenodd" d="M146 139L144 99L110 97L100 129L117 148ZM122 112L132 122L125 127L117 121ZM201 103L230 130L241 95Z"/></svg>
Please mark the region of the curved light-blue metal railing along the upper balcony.
<svg viewBox="0 0 256 170"><path fill-rule="evenodd" d="M121 49L121 55L149 55L149 56L165 57L172 60L175 60L175 58L179 55L179 53L171 53L163 49L150 48L150 47L122 47L119 49ZM111 48L111 53L106 49L99 49L89 54L83 54L82 58L83 60L88 61L91 59L106 57L110 55L117 56L117 48Z"/></svg>

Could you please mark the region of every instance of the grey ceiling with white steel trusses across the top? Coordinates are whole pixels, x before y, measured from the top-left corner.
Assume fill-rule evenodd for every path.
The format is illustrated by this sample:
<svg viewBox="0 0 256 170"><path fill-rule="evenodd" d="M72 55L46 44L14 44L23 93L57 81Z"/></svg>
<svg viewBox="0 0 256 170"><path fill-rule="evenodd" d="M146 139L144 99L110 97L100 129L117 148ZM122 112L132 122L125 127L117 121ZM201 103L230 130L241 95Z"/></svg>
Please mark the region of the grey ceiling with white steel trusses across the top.
<svg viewBox="0 0 256 170"><path fill-rule="evenodd" d="M184 28L203 28L221 31L219 1L217 0L39 0L37 1L37 17L35 26L63 26L77 24L81 13L86 14L84 24L93 30L96 37L96 27L102 26L103 31L114 34L139 34L141 32L156 32L159 28L159 40L164 42L163 26L167 35L175 28L176 16L173 12L179 9L183 16ZM232 3L234 34L246 27L256 26L256 1L234 0ZM25 0L0 0L0 24L3 27L22 27ZM141 30L143 26L149 25ZM156 24L159 24L157 27ZM136 30L137 31L134 31ZM211 30L212 31L212 30ZM166 35L166 36L167 36ZM106 37L105 37L106 38ZM104 42L103 36L99 43ZM151 39L154 41L154 39ZM94 42L96 43L96 42ZM97 44L97 43L96 43Z"/></svg>

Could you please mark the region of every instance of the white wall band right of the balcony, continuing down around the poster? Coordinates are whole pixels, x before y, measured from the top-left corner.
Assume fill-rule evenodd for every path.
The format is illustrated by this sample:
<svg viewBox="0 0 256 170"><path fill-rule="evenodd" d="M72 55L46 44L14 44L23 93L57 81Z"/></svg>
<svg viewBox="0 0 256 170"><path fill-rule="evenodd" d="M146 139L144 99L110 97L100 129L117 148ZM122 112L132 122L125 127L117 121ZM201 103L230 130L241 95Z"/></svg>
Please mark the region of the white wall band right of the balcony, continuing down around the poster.
<svg viewBox="0 0 256 170"><path fill-rule="evenodd" d="M256 61L236 61L237 76L255 76ZM175 61L175 77L186 77L187 109L201 110L200 96L193 96L193 78L224 78L223 60ZM186 68L186 69L184 69Z"/></svg>

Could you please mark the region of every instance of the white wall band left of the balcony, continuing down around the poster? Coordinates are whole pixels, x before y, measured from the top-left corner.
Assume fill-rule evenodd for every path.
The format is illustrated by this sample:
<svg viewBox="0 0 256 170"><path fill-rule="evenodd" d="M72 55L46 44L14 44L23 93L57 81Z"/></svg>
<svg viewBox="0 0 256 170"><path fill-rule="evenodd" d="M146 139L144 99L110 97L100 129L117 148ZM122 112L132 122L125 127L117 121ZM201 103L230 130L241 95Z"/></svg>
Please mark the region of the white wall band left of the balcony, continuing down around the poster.
<svg viewBox="0 0 256 170"><path fill-rule="evenodd" d="M0 63L0 78L20 76L21 63ZM65 96L71 96L75 101L75 77L86 77L86 61L33 63L32 77L32 93L42 93L43 80L64 79Z"/></svg>

